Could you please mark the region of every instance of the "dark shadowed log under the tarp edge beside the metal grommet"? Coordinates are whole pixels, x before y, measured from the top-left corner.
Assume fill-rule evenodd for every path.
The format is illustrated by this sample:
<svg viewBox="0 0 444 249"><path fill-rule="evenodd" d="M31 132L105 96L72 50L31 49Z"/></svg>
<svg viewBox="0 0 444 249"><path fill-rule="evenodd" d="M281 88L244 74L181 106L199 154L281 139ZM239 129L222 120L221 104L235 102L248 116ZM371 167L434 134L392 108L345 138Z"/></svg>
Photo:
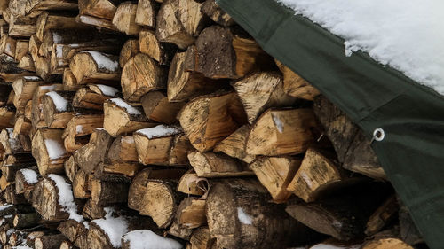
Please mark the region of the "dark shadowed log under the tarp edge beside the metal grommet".
<svg viewBox="0 0 444 249"><path fill-rule="evenodd" d="M321 122L326 136L337 152L337 160L353 172L376 179L386 179L384 169L370 147L370 141L360 128L326 97L316 97L313 111ZM355 153L359 157L355 156Z"/></svg>

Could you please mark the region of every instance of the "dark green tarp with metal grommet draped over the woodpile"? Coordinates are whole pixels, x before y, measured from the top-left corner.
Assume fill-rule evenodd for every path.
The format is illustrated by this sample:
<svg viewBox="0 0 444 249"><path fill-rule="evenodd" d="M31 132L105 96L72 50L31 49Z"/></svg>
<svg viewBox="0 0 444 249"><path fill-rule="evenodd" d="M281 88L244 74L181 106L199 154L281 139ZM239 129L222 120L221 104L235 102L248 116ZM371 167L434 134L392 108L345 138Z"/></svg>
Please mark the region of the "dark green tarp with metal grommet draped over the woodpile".
<svg viewBox="0 0 444 249"><path fill-rule="evenodd" d="M274 0L217 0L274 58L341 108L372 147L431 248L444 248L444 98Z"/></svg>

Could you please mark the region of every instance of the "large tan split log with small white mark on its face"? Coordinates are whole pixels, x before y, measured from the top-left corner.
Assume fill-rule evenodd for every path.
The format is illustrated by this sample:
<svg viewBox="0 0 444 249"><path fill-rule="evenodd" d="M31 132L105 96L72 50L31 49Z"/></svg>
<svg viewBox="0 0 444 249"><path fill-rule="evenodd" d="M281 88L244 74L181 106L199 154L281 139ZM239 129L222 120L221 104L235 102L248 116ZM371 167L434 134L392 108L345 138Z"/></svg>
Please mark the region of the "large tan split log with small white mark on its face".
<svg viewBox="0 0 444 249"><path fill-rule="evenodd" d="M246 152L266 156L302 153L320 135L317 129L311 109L268 109L250 129Z"/></svg>

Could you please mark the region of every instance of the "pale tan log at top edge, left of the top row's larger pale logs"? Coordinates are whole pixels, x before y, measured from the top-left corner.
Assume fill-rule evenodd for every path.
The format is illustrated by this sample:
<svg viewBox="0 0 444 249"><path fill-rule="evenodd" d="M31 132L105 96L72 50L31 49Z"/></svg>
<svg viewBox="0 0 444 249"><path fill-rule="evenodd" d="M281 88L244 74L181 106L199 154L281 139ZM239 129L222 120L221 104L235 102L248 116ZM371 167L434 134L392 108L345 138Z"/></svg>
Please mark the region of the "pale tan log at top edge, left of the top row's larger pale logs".
<svg viewBox="0 0 444 249"><path fill-rule="evenodd" d="M117 30L126 35L139 35L140 26L136 23L136 11L138 4L124 2L119 4L113 17L113 24Z"/></svg>

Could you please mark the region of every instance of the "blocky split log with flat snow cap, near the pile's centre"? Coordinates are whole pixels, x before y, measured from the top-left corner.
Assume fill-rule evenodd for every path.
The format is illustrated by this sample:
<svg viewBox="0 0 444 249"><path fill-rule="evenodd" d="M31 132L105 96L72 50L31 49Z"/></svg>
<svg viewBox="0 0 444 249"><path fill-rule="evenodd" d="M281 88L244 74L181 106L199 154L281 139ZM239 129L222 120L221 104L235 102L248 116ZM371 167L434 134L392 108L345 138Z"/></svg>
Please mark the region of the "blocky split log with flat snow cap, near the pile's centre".
<svg viewBox="0 0 444 249"><path fill-rule="evenodd" d="M139 162L168 165L170 149L174 136L182 133L178 127L158 125L154 128L139 129L134 133L134 142L139 155Z"/></svg>

